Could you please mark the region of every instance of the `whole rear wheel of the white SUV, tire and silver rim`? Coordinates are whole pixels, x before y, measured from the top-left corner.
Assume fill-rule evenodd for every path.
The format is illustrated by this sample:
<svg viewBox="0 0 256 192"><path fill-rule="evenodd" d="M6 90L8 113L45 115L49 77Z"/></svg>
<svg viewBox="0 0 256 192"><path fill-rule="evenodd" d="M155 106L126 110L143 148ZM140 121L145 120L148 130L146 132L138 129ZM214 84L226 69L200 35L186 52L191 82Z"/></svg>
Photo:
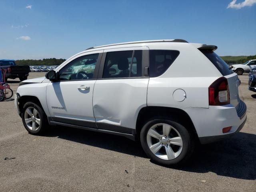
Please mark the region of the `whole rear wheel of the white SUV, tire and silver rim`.
<svg viewBox="0 0 256 192"><path fill-rule="evenodd" d="M166 138L163 129L166 130ZM169 134L168 130L170 130ZM186 162L194 151L195 145L193 134L180 123L170 118L149 120L140 132L140 142L151 160L164 165Z"/></svg>

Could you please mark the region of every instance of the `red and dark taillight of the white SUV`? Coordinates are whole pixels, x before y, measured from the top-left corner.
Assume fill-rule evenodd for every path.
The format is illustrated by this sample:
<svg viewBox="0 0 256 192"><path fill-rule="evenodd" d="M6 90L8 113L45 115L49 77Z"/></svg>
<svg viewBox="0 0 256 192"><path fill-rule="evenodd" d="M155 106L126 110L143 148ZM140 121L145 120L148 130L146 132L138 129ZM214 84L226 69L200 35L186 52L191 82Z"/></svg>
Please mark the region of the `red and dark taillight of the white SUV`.
<svg viewBox="0 0 256 192"><path fill-rule="evenodd" d="M226 104L230 104L228 80L225 77L221 77L209 87L209 105Z"/></svg>

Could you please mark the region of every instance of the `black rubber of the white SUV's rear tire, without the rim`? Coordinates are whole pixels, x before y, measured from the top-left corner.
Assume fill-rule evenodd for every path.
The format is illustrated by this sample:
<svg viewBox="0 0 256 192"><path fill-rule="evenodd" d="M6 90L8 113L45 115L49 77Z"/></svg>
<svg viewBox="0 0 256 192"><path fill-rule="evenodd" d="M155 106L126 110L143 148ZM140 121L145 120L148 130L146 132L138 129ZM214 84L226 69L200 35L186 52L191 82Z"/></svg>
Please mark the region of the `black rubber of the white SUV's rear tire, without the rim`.
<svg viewBox="0 0 256 192"><path fill-rule="evenodd" d="M173 128L175 128L182 138L183 146L182 151L180 154L172 159L172 160L164 160L159 157L157 157L149 148L147 143L147 134L148 130L154 126L155 124L164 123L169 124ZM172 120L171 118L154 118L149 120L143 127L140 132L140 142L142 145L142 148L146 152L146 154L150 157L151 160L154 162L157 162L158 164L164 164L164 165L177 165L177 164L183 164L188 160L188 158L192 155L194 151L195 146L195 139L194 134L192 132L188 131L182 124L178 123L176 120Z"/></svg>

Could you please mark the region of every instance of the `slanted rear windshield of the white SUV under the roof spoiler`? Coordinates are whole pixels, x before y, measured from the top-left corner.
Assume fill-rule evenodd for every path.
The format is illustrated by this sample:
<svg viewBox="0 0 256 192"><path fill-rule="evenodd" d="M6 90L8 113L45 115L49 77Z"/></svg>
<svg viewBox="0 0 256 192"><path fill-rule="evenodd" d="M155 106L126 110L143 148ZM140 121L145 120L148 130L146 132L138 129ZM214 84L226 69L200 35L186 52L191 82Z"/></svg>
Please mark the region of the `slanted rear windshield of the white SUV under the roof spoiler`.
<svg viewBox="0 0 256 192"><path fill-rule="evenodd" d="M234 73L229 68L228 64L226 64L226 62L224 62L224 60L222 60L222 58L220 58L220 56L218 56L212 50L200 50L200 51L212 62L212 64L214 64L214 66L220 71L220 73L223 76Z"/></svg>

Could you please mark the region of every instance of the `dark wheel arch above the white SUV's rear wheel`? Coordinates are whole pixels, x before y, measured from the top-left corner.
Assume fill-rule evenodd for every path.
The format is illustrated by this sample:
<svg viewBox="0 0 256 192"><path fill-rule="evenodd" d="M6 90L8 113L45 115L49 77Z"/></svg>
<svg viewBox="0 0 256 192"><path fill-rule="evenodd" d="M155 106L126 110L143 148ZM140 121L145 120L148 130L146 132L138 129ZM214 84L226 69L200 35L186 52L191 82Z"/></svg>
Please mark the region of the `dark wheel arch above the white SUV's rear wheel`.
<svg viewBox="0 0 256 192"><path fill-rule="evenodd" d="M171 107L160 107L160 106L146 106L142 108L137 116L136 120L136 140L140 139L140 131L143 125L153 117L156 116L169 116L174 118L180 124L188 128L196 138L198 138L196 128L190 118L190 116L182 109L171 108Z"/></svg>

